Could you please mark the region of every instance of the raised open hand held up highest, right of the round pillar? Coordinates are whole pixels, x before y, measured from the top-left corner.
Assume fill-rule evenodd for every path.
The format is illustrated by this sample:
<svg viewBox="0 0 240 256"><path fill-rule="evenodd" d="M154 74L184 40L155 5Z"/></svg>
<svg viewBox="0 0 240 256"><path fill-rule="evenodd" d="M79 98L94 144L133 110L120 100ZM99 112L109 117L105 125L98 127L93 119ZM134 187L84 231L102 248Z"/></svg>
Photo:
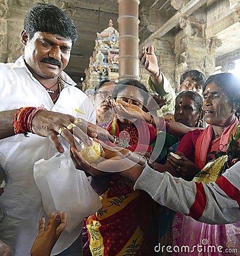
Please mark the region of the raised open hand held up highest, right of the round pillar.
<svg viewBox="0 0 240 256"><path fill-rule="evenodd" d="M157 56L154 54L154 46L150 45L148 47L148 52L146 52L146 46L144 46L142 51L139 53L139 60L148 72L158 72L158 60Z"/></svg>

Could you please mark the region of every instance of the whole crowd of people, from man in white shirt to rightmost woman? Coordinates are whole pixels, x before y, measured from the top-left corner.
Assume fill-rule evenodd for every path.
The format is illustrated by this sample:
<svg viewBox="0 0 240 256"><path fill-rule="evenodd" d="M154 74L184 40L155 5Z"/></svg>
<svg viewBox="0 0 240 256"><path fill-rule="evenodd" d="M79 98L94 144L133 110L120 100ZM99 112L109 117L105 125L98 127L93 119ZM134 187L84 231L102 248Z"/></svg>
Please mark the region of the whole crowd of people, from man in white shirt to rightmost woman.
<svg viewBox="0 0 240 256"><path fill-rule="evenodd" d="M71 219L44 213L34 163L64 151L102 207L79 220L77 235L67 231L55 255L169 255L158 243L193 249L203 240L221 251L171 255L238 255L239 79L188 70L175 95L150 45L139 60L156 95L138 80L103 80L91 101L64 72L76 39L70 17L36 4L21 32L24 55L0 63L1 255L49 256L59 242ZM89 162L79 151L93 141L100 155Z"/></svg>

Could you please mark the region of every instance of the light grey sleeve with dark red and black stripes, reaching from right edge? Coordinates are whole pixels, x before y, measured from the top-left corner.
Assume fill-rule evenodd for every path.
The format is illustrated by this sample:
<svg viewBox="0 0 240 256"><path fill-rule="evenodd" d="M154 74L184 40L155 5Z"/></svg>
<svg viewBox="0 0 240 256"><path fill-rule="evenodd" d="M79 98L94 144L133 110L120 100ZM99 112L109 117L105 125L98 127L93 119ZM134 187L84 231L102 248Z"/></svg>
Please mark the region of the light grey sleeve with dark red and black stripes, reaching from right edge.
<svg viewBox="0 0 240 256"><path fill-rule="evenodd" d="M185 181L146 166L134 189L145 190L159 204L200 222L226 224L240 220L240 162L211 184Z"/></svg>

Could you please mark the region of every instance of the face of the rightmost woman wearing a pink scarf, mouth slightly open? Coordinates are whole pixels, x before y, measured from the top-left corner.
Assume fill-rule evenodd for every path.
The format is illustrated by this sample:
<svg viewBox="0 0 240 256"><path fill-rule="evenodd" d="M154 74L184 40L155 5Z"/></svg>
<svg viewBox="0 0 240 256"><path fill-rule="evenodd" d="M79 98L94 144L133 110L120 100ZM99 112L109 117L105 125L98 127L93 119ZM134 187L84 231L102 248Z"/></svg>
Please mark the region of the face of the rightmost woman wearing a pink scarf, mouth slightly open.
<svg viewBox="0 0 240 256"><path fill-rule="evenodd" d="M229 125L235 116L232 113L230 100L223 93L220 87L215 84L208 84L203 93L206 122L215 126ZM230 122L229 122L230 121Z"/></svg>

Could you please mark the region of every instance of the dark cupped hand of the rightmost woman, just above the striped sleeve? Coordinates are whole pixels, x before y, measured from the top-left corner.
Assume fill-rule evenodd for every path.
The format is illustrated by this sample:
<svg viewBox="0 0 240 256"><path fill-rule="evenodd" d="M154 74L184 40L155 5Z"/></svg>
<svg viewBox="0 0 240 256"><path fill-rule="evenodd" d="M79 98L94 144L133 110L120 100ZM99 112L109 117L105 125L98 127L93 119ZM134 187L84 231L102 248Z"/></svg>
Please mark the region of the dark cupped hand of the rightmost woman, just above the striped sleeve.
<svg viewBox="0 0 240 256"><path fill-rule="evenodd" d="M176 159L170 155L168 163L175 168L179 176L186 181L193 180L194 176L200 172L199 167L197 167L192 161L188 160L187 157L181 154L181 152L176 152L176 154L181 155L181 159Z"/></svg>

